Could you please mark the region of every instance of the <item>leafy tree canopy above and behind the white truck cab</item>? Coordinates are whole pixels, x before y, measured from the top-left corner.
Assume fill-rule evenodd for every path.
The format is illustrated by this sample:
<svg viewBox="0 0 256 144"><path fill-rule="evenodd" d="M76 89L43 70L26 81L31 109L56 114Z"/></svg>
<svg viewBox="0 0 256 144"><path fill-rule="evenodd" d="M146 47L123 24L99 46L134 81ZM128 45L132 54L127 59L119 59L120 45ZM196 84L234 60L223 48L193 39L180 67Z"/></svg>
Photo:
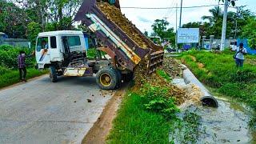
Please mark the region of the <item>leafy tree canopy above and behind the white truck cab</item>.
<svg viewBox="0 0 256 144"><path fill-rule="evenodd" d="M10 38L29 38L48 30L74 30L82 0L0 1L0 30Z"/></svg>

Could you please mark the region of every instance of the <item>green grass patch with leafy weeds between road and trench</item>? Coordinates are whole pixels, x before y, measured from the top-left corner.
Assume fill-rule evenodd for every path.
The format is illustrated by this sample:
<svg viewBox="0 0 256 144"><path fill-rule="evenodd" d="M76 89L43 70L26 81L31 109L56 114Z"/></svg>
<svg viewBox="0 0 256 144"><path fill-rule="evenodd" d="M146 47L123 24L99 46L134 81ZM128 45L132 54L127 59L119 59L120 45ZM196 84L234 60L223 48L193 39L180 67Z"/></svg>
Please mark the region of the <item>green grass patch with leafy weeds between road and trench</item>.
<svg viewBox="0 0 256 144"><path fill-rule="evenodd" d="M159 81L142 82L140 90L129 92L122 102L108 143L173 143L170 131L179 112L170 87L170 77L158 70Z"/></svg>

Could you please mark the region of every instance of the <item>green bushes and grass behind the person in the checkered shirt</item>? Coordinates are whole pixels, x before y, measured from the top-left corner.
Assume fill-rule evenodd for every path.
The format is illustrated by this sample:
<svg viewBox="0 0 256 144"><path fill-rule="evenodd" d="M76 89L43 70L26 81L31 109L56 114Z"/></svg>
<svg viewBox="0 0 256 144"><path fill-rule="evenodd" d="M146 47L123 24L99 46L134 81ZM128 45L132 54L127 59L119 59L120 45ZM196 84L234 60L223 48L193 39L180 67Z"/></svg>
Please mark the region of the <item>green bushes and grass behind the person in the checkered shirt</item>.
<svg viewBox="0 0 256 144"><path fill-rule="evenodd" d="M19 72L17 64L17 56L20 50L25 50L26 54L30 54L31 50L21 47L8 45L0 46L0 89L19 82ZM47 71L35 70L35 59L26 58L27 76L26 78L34 78Z"/></svg>

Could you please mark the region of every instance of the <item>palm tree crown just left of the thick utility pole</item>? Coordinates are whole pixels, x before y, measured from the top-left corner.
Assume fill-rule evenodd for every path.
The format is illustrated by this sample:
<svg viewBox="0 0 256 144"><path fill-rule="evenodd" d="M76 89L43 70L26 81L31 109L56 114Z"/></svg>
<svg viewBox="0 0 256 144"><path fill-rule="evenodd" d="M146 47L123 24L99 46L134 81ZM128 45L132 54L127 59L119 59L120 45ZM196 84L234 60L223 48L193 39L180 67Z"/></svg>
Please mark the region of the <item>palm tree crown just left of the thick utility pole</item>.
<svg viewBox="0 0 256 144"><path fill-rule="evenodd" d="M211 16L202 16L202 19L209 20L211 25L218 22L218 20L223 17L222 9L219 6L215 6L214 9L210 9L209 12Z"/></svg>

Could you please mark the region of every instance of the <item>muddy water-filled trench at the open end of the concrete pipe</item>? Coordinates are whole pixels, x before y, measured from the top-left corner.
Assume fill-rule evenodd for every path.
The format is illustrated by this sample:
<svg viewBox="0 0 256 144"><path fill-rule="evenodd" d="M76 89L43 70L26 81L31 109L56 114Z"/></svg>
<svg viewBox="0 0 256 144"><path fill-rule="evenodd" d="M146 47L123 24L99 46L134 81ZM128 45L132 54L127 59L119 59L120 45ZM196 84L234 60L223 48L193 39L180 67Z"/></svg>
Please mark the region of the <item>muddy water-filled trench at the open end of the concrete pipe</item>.
<svg viewBox="0 0 256 144"><path fill-rule="evenodd" d="M177 86L187 85L174 78ZM174 143L255 143L255 112L233 98L214 94L218 108L186 102L181 106L177 122L170 130ZM253 120L254 119L254 120Z"/></svg>

